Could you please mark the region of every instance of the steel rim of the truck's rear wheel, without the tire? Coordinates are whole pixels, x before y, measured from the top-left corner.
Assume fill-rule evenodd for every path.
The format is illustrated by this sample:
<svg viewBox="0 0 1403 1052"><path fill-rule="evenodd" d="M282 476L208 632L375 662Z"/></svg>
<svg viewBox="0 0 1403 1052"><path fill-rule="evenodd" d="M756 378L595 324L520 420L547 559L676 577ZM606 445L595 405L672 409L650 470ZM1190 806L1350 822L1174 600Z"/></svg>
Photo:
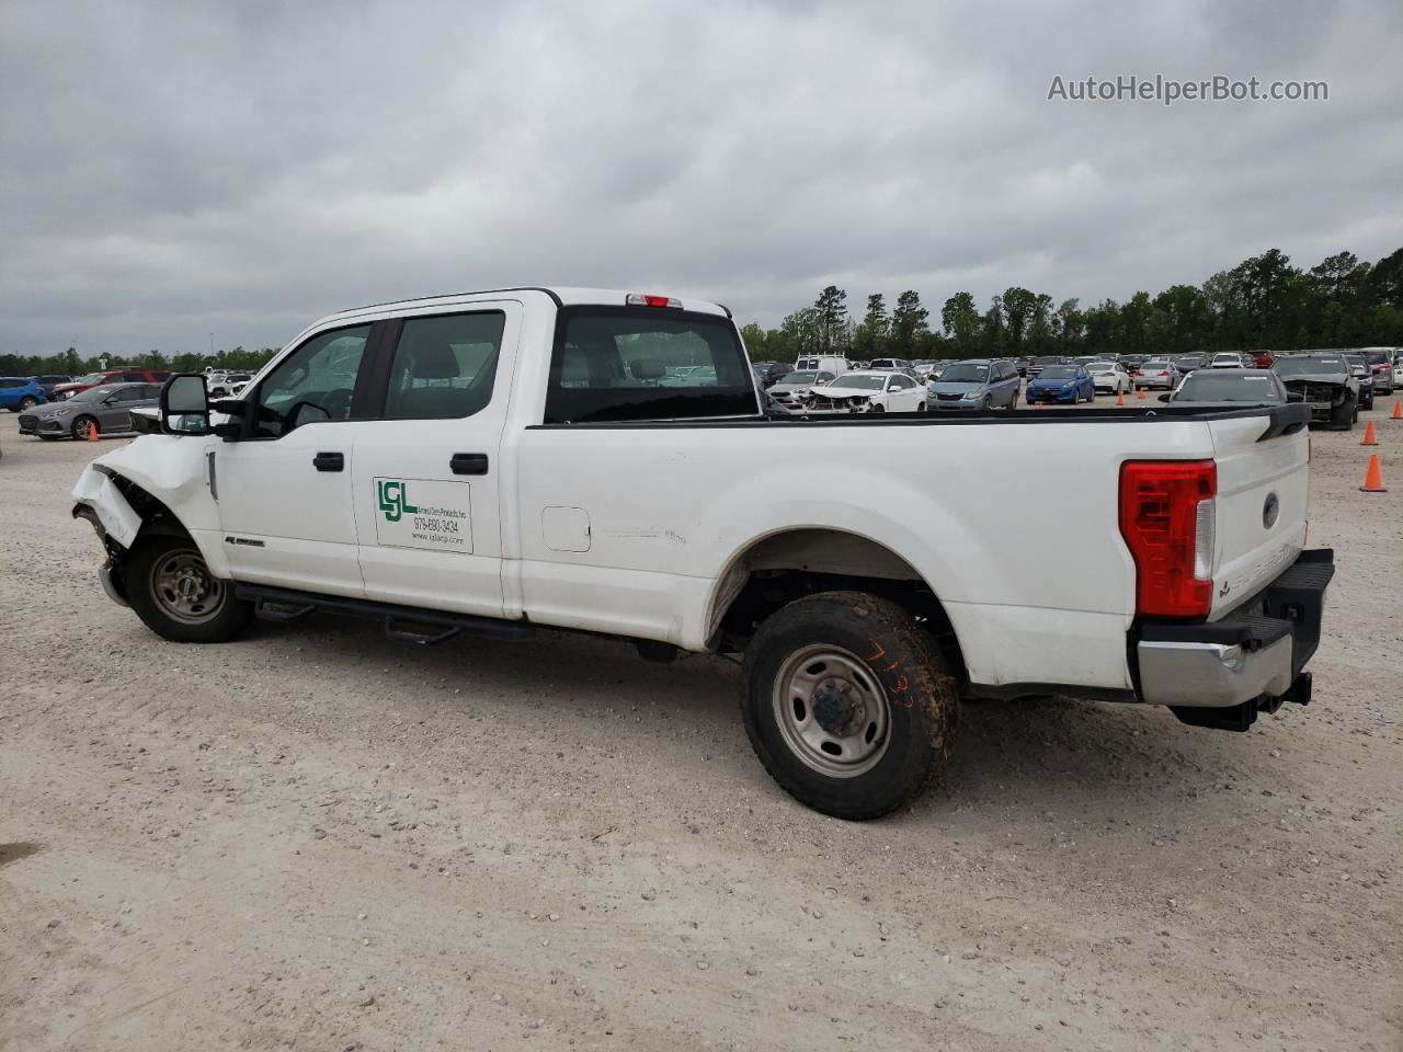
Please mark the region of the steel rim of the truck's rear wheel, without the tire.
<svg viewBox="0 0 1403 1052"><path fill-rule="evenodd" d="M815 644L790 655L774 677L772 703L784 745L818 774L856 778L887 755L887 692L842 647Z"/></svg>

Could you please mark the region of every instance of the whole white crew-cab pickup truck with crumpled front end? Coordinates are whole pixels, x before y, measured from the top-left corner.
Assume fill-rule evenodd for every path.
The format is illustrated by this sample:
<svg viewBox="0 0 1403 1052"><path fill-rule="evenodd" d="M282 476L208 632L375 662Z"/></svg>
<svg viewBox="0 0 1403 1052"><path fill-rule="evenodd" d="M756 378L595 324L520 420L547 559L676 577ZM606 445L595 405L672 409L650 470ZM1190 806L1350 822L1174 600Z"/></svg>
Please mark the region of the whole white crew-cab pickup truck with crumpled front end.
<svg viewBox="0 0 1403 1052"><path fill-rule="evenodd" d="M936 777L961 697L1061 693L1246 729L1310 696L1329 550L1306 410L766 415L725 307L499 289L334 314L234 400L171 379L74 515L160 635L744 654L788 793L843 818Z"/></svg>

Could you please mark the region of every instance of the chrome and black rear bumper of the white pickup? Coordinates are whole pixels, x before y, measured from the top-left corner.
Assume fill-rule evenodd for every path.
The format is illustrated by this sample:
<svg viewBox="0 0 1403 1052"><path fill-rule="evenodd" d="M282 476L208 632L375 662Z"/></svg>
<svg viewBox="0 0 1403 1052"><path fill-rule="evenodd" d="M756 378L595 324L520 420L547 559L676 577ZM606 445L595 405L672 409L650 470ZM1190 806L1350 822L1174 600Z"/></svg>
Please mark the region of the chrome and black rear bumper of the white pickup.
<svg viewBox="0 0 1403 1052"><path fill-rule="evenodd" d="M1226 617L1139 626L1132 649L1141 699L1176 710L1242 706L1254 714L1299 694L1298 677L1320 644L1324 591L1331 576L1331 548L1302 551L1275 581Z"/></svg>

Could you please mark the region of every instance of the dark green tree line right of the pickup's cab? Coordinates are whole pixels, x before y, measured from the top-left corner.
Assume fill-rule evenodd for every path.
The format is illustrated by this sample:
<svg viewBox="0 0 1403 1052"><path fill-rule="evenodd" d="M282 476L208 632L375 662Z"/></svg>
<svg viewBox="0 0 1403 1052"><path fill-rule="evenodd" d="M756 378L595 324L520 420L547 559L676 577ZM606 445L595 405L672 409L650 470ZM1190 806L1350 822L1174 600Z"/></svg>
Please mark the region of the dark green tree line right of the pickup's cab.
<svg viewBox="0 0 1403 1052"><path fill-rule="evenodd" d="M812 353L871 360L1403 346L1403 248L1374 264L1337 252L1309 269L1271 248L1202 285L1086 307L1014 285L981 311L971 293L957 292L937 320L908 289L890 310L884 293L871 293L857 321L847 292L829 285L779 328L751 323L741 334L752 360L774 362Z"/></svg>

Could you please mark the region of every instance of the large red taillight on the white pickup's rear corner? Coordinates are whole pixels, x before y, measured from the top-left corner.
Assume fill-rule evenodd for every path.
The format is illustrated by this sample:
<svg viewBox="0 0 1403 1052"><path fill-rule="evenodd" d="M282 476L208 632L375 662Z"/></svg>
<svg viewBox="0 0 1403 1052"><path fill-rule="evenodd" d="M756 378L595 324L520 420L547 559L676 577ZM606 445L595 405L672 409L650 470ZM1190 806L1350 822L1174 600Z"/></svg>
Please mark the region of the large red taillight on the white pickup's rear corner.
<svg viewBox="0 0 1403 1052"><path fill-rule="evenodd" d="M1121 536L1135 560L1138 617L1207 617L1214 602L1212 460L1121 464Z"/></svg>

